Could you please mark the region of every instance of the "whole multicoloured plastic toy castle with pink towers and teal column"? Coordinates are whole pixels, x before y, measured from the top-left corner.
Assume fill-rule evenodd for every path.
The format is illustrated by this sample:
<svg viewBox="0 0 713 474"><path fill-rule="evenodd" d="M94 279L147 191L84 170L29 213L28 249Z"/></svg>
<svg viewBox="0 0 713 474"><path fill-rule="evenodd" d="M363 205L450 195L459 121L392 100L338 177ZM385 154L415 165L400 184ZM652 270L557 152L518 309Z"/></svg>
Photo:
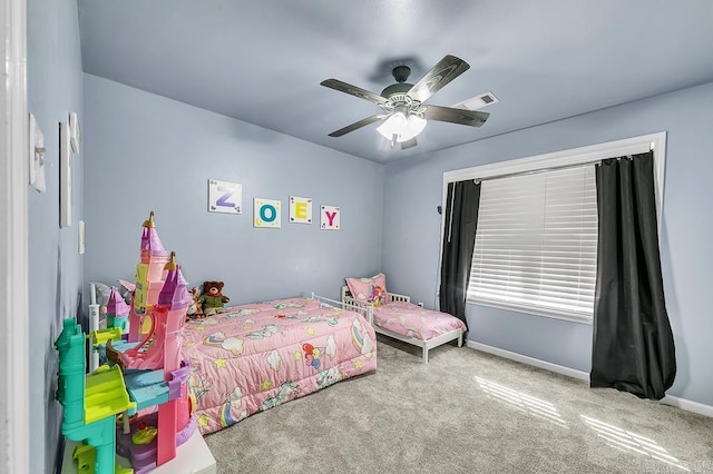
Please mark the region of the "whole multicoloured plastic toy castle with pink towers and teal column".
<svg viewBox="0 0 713 474"><path fill-rule="evenodd" d="M131 305L116 292L107 305L113 327L92 335L95 344L106 342L110 364L85 375L86 335L74 318L65 319L56 343L62 434L84 442L75 452L80 472L114 473L116 453L134 472L147 472L173 460L196 431L187 389L191 367L180 359L191 303L175 253L164 248L152 211L144 223ZM123 340L127 315L128 340ZM148 330L141 330L147 323Z"/></svg>

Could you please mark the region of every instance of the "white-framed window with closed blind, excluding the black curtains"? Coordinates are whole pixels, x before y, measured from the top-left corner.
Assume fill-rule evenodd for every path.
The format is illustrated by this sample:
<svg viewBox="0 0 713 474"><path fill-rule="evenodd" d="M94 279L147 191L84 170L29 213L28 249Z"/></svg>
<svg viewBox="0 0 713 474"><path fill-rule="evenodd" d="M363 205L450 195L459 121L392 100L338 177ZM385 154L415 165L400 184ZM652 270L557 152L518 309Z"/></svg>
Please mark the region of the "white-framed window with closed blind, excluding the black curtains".
<svg viewBox="0 0 713 474"><path fill-rule="evenodd" d="M661 229L665 132L445 172L443 205L449 182L482 180L468 303L592 323L594 165L649 149Z"/></svg>

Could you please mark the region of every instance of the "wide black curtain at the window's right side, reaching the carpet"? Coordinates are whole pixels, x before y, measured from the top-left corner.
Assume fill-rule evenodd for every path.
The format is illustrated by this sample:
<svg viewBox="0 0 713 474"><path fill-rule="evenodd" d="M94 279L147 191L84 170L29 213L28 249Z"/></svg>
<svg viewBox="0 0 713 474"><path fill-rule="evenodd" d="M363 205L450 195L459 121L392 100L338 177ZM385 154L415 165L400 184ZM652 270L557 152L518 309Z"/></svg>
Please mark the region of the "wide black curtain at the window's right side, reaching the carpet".
<svg viewBox="0 0 713 474"><path fill-rule="evenodd" d="M661 399L676 375L664 302L653 152L597 166L599 241L592 387Z"/></svg>

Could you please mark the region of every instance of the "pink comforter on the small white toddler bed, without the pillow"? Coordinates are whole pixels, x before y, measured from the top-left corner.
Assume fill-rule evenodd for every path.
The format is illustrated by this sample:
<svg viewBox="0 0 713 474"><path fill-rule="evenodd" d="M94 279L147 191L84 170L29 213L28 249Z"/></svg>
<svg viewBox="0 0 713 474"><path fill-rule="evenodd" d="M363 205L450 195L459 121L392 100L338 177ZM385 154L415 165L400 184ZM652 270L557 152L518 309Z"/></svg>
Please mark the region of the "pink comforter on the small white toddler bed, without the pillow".
<svg viewBox="0 0 713 474"><path fill-rule="evenodd" d="M455 329L466 329L463 322L456 316L403 302L375 307L373 322L392 333L421 340L429 340Z"/></svg>

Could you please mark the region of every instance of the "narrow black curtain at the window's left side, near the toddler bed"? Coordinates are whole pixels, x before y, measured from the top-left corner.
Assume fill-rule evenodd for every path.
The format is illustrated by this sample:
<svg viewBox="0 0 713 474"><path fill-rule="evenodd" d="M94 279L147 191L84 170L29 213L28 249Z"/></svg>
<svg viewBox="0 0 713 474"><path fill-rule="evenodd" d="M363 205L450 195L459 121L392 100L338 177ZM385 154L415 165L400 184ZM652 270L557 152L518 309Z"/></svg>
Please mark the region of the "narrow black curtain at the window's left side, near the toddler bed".
<svg viewBox="0 0 713 474"><path fill-rule="evenodd" d="M480 182L449 182L441 259L440 310L466 323L466 292L476 245Z"/></svg>

